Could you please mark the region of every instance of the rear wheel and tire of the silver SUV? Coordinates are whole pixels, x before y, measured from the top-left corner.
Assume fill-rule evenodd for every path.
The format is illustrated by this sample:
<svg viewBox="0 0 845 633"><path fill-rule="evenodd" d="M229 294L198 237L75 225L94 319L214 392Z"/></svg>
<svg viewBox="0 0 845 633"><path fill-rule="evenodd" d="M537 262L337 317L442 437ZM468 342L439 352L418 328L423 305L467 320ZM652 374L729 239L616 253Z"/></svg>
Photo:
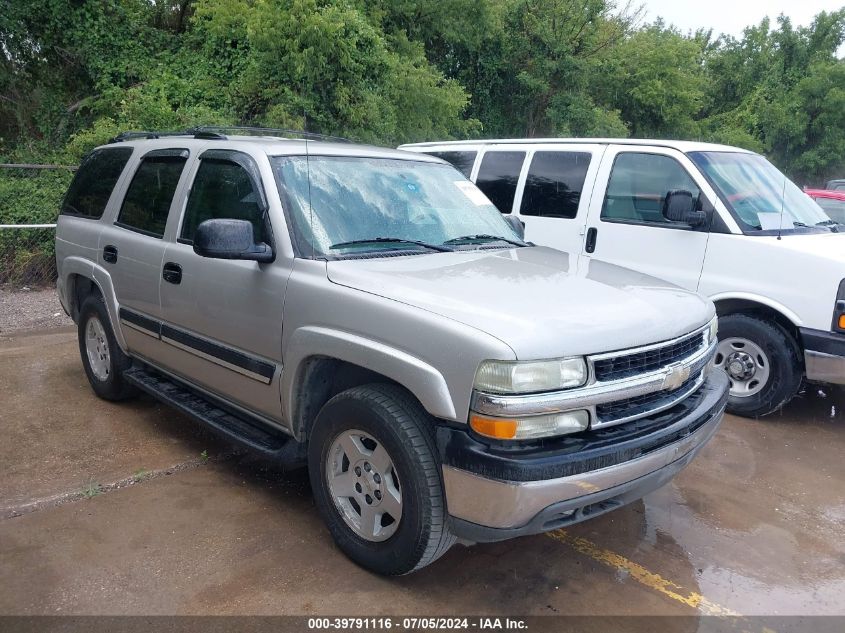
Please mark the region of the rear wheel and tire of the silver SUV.
<svg viewBox="0 0 845 633"><path fill-rule="evenodd" d="M109 313L100 295L90 295L79 309L79 355L91 388L104 400L126 400L138 390L123 378L132 359L114 338Z"/></svg>

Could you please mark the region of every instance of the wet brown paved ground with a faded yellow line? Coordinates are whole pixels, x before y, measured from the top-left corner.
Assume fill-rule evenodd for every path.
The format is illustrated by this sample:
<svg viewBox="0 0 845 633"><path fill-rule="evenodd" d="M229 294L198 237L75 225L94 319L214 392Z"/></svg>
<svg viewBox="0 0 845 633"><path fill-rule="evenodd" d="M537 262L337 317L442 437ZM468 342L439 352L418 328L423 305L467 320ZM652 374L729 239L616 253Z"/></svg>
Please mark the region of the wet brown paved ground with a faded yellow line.
<svg viewBox="0 0 845 633"><path fill-rule="evenodd" d="M728 416L643 501L402 578L334 547L302 474L97 399L73 328L0 336L0 394L0 614L845 615L839 389Z"/></svg>

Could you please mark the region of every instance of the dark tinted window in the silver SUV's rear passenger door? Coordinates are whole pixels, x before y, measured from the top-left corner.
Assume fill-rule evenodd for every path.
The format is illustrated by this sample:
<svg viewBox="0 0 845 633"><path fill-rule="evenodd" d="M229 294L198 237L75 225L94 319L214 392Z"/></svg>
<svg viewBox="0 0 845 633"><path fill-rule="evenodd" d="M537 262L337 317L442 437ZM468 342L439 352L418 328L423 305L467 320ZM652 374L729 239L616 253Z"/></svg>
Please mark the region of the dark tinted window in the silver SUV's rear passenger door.
<svg viewBox="0 0 845 633"><path fill-rule="evenodd" d="M181 156L144 158L123 198L116 224L153 237L164 235L184 167L185 158Z"/></svg>

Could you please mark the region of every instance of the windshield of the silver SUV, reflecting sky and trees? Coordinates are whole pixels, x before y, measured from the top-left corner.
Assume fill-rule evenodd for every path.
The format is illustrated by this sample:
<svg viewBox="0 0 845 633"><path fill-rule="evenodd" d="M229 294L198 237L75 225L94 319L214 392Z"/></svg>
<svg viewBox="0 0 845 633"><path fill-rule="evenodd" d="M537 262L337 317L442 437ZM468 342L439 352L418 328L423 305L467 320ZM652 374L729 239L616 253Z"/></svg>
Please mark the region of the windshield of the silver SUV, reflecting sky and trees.
<svg viewBox="0 0 845 633"><path fill-rule="evenodd" d="M373 256L524 244L451 165L346 156L272 161L303 254Z"/></svg>

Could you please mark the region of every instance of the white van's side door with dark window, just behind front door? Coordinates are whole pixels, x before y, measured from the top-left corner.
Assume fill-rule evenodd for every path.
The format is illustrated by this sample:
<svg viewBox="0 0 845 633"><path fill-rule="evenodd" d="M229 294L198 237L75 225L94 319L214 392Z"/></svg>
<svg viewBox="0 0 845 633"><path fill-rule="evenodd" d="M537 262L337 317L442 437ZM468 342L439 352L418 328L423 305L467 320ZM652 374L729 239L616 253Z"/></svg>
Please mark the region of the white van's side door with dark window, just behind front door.
<svg viewBox="0 0 845 633"><path fill-rule="evenodd" d="M602 150L549 145L529 151L515 201L527 240L580 256Z"/></svg>

